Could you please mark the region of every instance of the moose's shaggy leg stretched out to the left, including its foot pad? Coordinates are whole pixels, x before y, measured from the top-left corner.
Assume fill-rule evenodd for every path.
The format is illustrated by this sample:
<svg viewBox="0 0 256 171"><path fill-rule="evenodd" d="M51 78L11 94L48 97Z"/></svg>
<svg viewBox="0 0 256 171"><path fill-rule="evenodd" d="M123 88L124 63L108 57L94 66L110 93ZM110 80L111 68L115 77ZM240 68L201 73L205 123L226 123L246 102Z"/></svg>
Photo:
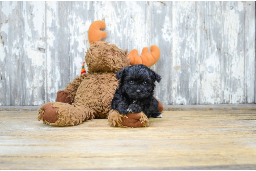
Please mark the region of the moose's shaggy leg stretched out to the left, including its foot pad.
<svg viewBox="0 0 256 171"><path fill-rule="evenodd" d="M93 119L95 110L81 102L76 104L47 103L38 110L38 120L52 126L73 126L82 121Z"/></svg>

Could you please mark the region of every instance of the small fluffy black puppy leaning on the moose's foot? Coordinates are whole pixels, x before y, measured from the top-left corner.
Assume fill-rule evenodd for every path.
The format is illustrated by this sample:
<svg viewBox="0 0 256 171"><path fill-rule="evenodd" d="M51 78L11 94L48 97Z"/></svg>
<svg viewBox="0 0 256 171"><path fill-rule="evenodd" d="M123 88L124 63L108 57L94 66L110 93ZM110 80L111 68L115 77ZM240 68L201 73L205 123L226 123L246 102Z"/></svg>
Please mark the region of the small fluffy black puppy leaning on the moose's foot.
<svg viewBox="0 0 256 171"><path fill-rule="evenodd" d="M119 87L116 89L110 108L120 114L143 113L148 117L162 118L158 102L154 98L155 81L161 76L145 65L132 65L116 73Z"/></svg>

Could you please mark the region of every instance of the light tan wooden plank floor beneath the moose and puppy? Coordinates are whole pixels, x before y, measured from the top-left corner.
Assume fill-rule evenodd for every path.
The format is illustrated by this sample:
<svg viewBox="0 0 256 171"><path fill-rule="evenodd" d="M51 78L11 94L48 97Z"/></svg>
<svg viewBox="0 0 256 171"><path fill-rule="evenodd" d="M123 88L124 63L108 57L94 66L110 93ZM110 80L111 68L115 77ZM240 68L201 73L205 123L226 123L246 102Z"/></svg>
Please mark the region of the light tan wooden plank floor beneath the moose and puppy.
<svg viewBox="0 0 256 171"><path fill-rule="evenodd" d="M256 111L163 111L146 128L73 127L0 111L0 169L256 169Z"/></svg>

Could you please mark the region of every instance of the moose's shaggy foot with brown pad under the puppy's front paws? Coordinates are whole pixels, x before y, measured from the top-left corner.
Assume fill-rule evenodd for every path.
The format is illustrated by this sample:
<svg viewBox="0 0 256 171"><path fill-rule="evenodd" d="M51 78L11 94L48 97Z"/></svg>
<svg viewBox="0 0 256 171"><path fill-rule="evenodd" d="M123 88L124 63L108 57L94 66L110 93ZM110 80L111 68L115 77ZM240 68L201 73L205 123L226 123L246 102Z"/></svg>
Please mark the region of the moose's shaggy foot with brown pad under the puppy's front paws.
<svg viewBox="0 0 256 171"><path fill-rule="evenodd" d="M149 125L149 120L142 111L137 114L120 115L117 110L110 110L108 121L113 127L123 128L146 127Z"/></svg>

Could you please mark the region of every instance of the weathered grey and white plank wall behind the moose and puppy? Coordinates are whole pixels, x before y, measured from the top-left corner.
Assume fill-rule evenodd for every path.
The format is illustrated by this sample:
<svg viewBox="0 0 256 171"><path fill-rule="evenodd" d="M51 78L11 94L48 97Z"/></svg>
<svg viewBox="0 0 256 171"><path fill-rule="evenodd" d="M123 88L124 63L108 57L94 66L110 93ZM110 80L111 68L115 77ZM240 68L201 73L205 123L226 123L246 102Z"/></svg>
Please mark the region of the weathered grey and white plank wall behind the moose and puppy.
<svg viewBox="0 0 256 171"><path fill-rule="evenodd" d="M163 104L255 102L255 1L0 1L0 105L55 101L96 20L121 49L160 48Z"/></svg>

